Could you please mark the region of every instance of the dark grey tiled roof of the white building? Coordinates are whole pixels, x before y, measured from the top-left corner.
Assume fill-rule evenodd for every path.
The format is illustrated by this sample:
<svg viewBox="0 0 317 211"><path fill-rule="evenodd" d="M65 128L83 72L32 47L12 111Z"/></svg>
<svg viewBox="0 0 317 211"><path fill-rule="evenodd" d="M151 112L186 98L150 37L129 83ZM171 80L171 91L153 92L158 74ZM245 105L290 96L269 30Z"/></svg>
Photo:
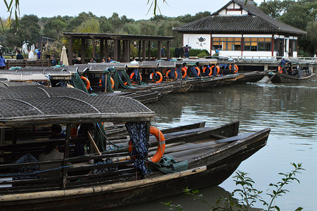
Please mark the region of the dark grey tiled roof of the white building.
<svg viewBox="0 0 317 211"><path fill-rule="evenodd" d="M235 2L248 15L219 15L229 4ZM245 5L243 0L231 0L224 7L212 13L211 16L186 23L179 27L174 27L174 31L182 33L287 33L287 34L306 34L278 20L271 18L262 12L252 1Z"/></svg>

